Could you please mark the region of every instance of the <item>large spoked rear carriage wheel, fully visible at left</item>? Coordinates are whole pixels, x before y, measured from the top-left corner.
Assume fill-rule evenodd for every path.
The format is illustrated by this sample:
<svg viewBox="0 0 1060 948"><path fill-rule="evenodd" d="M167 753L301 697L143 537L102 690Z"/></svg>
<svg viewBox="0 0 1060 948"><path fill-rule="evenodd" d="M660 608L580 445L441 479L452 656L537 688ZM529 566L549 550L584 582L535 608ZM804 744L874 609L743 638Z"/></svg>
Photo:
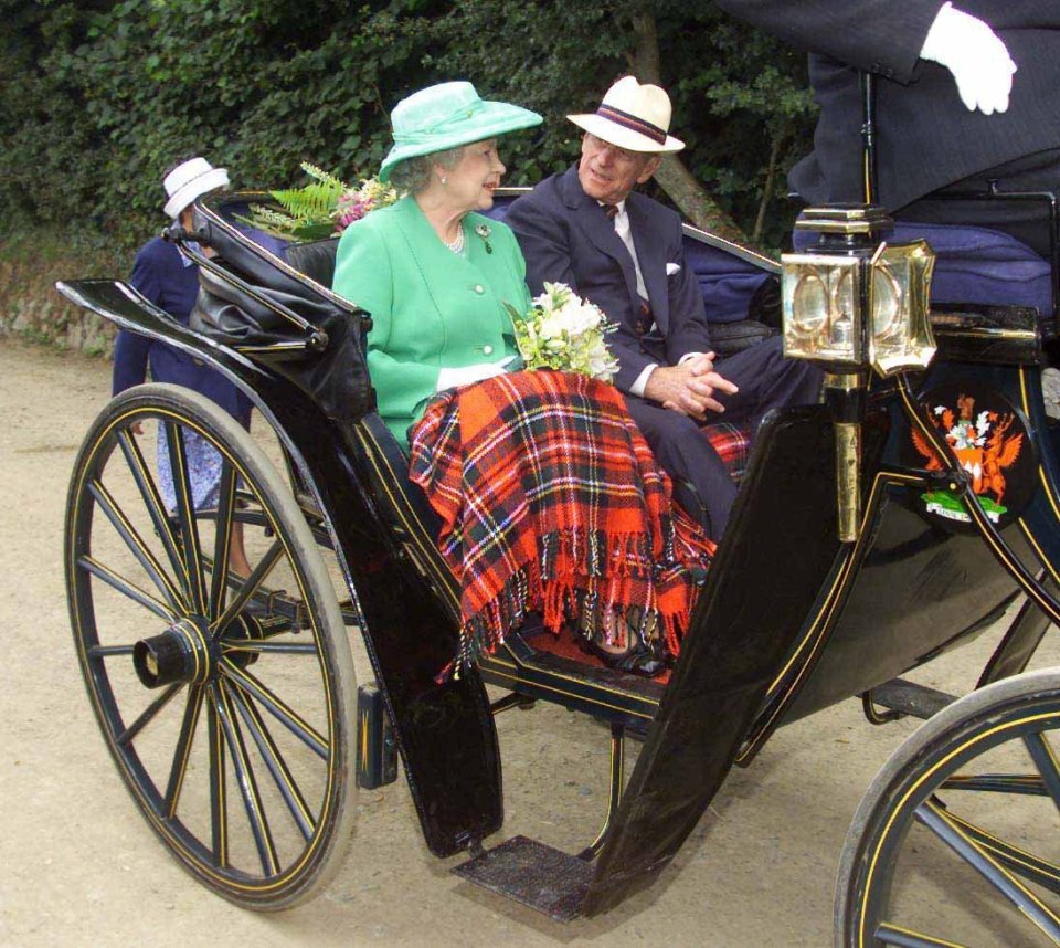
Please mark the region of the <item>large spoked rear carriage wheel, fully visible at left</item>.
<svg viewBox="0 0 1060 948"><path fill-rule="evenodd" d="M220 474L213 496L201 496L197 459ZM307 897L352 830L356 685L289 489L213 402L141 386L88 432L66 516L82 672L147 821L233 902Z"/></svg>

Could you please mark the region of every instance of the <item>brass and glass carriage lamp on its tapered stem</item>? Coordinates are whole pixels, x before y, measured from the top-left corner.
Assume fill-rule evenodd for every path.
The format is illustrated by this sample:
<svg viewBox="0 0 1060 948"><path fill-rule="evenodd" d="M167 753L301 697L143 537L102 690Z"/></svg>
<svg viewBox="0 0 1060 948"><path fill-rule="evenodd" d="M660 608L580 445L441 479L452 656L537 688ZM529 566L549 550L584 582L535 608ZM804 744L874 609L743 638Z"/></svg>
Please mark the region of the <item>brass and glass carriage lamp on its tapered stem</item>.
<svg viewBox="0 0 1060 948"><path fill-rule="evenodd" d="M924 369L935 354L928 296L935 255L926 241L888 244L893 222L872 204L807 208L796 231L816 243L781 257L784 355L825 368L836 421L839 538L861 519L861 422L868 369L882 378Z"/></svg>

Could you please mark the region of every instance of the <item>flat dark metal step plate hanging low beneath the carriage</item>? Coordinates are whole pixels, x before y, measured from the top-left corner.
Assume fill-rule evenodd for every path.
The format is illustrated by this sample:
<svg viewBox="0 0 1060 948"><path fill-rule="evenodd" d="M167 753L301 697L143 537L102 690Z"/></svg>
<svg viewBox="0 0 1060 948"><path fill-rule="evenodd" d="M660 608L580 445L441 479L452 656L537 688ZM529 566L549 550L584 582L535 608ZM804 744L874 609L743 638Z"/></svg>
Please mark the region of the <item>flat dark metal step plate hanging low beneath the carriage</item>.
<svg viewBox="0 0 1060 948"><path fill-rule="evenodd" d="M593 864L537 840L513 836L453 872L556 921L570 921L580 914Z"/></svg>

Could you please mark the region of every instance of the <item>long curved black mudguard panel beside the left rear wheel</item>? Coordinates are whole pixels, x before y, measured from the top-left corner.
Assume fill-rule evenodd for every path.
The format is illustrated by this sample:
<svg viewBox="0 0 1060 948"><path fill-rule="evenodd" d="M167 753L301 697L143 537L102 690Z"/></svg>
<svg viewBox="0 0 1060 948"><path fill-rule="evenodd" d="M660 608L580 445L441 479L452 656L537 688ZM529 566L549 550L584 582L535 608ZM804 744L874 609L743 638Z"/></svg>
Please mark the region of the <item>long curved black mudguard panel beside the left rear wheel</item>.
<svg viewBox="0 0 1060 948"><path fill-rule="evenodd" d="M489 703L470 671L444 685L438 671L455 654L456 625L431 593L380 513L370 465L337 422L298 387L193 333L117 281L65 283L71 301L120 328L176 346L236 385L274 429L311 491L390 712L424 839L453 855L502 823L500 756Z"/></svg>

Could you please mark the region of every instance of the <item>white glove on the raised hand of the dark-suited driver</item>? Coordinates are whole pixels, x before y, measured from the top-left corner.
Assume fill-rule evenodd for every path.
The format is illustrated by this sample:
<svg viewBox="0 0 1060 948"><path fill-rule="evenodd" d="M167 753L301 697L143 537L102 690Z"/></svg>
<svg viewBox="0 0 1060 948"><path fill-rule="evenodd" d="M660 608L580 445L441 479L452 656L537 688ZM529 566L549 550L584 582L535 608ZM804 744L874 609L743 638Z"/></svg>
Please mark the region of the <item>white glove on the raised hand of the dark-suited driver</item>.
<svg viewBox="0 0 1060 948"><path fill-rule="evenodd" d="M957 83L968 112L1005 112L1016 63L1000 38L986 23L944 3L928 31L922 60L944 65Z"/></svg>

